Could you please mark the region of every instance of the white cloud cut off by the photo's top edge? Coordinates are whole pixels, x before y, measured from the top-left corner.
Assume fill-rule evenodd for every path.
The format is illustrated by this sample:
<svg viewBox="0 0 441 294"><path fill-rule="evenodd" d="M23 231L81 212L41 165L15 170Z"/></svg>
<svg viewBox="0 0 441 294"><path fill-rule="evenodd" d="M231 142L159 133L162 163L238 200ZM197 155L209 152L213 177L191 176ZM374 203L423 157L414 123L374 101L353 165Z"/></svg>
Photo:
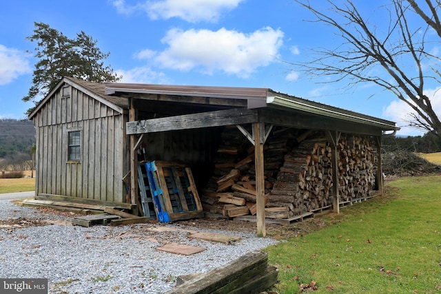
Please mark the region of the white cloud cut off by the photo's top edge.
<svg viewBox="0 0 441 294"><path fill-rule="evenodd" d="M243 0L162 0L142 1L132 6L125 0L114 0L113 5L121 14L132 14L136 11L146 12L151 19L171 19L177 17L185 21L215 22L224 12L233 10Z"/></svg>

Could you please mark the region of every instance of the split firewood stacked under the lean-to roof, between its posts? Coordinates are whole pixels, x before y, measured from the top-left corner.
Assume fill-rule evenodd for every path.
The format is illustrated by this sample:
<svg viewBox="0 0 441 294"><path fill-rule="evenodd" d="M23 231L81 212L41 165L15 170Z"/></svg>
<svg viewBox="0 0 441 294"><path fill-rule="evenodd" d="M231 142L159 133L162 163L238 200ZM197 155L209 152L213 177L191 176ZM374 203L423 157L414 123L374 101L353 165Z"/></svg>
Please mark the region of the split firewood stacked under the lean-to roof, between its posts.
<svg viewBox="0 0 441 294"><path fill-rule="evenodd" d="M256 213L254 146L227 128L214 177L201 197L206 211L227 217ZM264 147L265 217L287 219L331 207L331 147L322 132L276 129ZM342 135L338 145L340 202L366 198L375 185L369 138Z"/></svg>

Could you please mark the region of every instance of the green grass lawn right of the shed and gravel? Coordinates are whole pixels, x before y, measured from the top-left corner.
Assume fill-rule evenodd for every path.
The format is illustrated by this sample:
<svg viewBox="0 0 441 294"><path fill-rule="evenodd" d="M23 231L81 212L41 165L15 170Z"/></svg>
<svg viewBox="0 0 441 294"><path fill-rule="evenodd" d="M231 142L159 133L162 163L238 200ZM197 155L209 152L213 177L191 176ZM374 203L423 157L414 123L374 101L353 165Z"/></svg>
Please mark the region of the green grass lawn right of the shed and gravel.
<svg viewBox="0 0 441 294"><path fill-rule="evenodd" d="M269 264L279 269L276 291L300 293L299 284L314 281L314 293L441 292L440 182L387 182L383 197L323 216L324 229L269 246Z"/></svg>

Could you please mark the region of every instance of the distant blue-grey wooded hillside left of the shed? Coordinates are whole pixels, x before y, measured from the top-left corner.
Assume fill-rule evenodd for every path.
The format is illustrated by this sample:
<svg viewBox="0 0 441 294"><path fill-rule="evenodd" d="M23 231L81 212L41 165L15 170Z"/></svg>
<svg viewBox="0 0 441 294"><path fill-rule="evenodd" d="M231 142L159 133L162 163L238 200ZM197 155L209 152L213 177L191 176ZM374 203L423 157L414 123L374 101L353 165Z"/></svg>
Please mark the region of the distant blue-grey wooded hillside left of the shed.
<svg viewBox="0 0 441 294"><path fill-rule="evenodd" d="M35 143L31 120L0 119L0 158L29 154Z"/></svg>

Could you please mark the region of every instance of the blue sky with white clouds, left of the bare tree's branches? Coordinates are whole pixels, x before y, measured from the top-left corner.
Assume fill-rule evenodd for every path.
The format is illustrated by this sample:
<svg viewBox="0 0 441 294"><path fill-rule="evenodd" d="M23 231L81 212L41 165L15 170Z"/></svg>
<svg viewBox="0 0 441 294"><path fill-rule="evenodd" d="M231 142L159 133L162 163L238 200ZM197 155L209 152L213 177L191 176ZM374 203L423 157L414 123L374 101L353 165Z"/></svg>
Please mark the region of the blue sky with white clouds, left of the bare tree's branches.
<svg viewBox="0 0 441 294"><path fill-rule="evenodd" d="M356 2L375 21L384 1ZM268 87L404 125L407 110L392 94L317 84L283 62L340 41L331 28L306 22L310 14L290 0L0 0L0 13L0 118L23 118L32 106L21 98L36 62L27 53L34 43L25 39L35 21L72 39L81 30L93 36L121 82Z"/></svg>

